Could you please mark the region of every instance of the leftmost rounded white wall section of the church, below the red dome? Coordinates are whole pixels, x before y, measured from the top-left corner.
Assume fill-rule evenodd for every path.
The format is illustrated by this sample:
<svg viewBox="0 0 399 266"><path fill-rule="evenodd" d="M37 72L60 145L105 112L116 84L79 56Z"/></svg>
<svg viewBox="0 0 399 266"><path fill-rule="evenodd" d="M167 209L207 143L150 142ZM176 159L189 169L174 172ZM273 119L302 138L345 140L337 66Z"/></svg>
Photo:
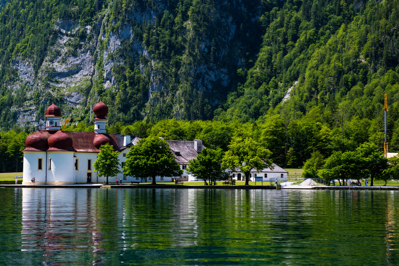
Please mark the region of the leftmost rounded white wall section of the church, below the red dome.
<svg viewBox="0 0 399 266"><path fill-rule="evenodd" d="M38 158L42 158L41 170L38 169ZM24 152L24 169L22 185L30 185L32 178L35 178L37 185L45 184L45 162L46 152Z"/></svg>

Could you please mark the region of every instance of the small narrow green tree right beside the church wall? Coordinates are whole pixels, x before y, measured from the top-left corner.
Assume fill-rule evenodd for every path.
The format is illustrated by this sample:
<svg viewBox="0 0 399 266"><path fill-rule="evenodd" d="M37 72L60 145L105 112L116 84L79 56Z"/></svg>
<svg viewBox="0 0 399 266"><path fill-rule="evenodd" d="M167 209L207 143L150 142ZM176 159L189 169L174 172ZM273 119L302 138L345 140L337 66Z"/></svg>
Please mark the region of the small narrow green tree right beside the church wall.
<svg viewBox="0 0 399 266"><path fill-rule="evenodd" d="M116 176L121 173L119 170L119 152L115 151L113 146L110 144L104 144L100 146L100 152L97 155L98 158L95 160L93 167L98 171L98 176L106 176L107 184L109 176Z"/></svg>

